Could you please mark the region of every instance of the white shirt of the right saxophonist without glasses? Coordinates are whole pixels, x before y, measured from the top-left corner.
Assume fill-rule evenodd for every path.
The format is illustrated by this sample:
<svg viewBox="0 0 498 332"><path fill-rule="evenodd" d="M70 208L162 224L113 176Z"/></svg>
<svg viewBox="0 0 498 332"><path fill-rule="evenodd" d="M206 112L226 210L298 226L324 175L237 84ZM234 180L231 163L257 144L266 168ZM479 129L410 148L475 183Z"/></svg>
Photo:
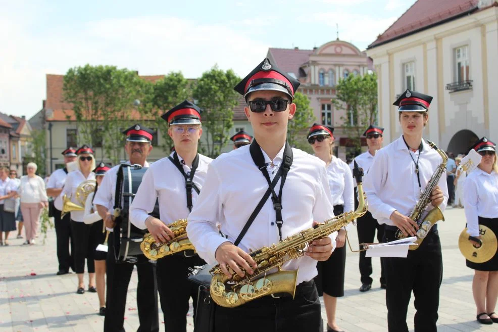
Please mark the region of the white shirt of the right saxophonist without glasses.
<svg viewBox="0 0 498 332"><path fill-rule="evenodd" d="M439 154L422 139L422 152L419 158L420 184L415 173L415 162L419 152L409 152L403 136L376 152L372 165L365 178L364 189L367 194L368 211L379 224L394 225L389 219L392 212L398 211L408 216L419 201L427 182L442 163ZM439 205L441 211L446 208L448 188L444 174L437 183L444 200ZM429 204L427 210L432 209Z"/></svg>

